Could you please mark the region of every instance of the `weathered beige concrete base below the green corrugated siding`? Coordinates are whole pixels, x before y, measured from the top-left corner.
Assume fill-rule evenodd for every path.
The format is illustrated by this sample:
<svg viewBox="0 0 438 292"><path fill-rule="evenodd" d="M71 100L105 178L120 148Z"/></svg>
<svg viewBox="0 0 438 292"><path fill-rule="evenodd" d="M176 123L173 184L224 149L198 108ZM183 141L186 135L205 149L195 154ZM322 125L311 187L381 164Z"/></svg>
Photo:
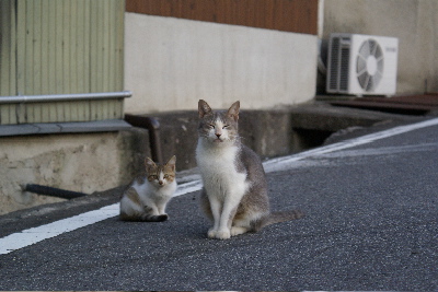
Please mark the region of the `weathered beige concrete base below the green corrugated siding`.
<svg viewBox="0 0 438 292"><path fill-rule="evenodd" d="M62 199L22 190L39 184L91 194L127 184L150 155L146 130L0 138L0 214Z"/></svg>

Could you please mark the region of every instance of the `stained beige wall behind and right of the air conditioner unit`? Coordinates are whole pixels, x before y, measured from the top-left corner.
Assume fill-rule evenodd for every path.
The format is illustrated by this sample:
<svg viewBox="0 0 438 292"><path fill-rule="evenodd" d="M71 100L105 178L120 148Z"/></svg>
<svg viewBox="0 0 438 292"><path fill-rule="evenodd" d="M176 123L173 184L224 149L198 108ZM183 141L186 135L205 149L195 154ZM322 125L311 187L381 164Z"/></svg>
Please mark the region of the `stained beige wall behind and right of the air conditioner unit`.
<svg viewBox="0 0 438 292"><path fill-rule="evenodd" d="M438 1L321 0L322 37L358 33L399 37L397 94L438 91Z"/></svg>

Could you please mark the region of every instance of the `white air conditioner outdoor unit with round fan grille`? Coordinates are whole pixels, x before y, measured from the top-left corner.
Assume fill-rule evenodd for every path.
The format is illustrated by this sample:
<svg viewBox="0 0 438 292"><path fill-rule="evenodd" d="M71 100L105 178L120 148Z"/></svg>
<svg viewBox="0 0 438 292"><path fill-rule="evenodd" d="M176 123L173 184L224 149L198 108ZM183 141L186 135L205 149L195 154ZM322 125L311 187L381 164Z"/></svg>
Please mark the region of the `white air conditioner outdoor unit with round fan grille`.
<svg viewBox="0 0 438 292"><path fill-rule="evenodd" d="M331 34L328 93L362 96L395 94L399 39L359 34Z"/></svg>

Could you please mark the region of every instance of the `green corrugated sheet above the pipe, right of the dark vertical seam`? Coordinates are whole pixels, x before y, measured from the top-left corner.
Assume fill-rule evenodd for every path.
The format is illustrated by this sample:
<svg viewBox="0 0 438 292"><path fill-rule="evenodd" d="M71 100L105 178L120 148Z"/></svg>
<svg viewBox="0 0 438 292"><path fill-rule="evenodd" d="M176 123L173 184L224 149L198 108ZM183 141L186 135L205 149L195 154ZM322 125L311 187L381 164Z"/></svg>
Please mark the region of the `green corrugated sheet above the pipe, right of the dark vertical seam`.
<svg viewBox="0 0 438 292"><path fill-rule="evenodd" d="M25 48L20 94L123 90L123 68L110 70L123 61L123 0L16 1Z"/></svg>

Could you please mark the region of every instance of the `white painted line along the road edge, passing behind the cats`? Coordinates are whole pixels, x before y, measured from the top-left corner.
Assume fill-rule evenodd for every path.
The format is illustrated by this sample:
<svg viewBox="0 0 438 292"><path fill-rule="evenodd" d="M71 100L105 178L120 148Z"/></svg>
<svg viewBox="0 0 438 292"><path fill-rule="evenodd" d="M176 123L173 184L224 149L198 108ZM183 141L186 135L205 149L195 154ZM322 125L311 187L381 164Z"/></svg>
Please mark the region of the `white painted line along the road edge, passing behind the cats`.
<svg viewBox="0 0 438 292"><path fill-rule="evenodd" d="M370 143L380 139L389 138L400 133L422 129L430 126L438 125L438 118L429 119L422 122L416 122L407 126L400 126L389 130L362 136L356 139L346 140L343 142L330 144L326 147L313 149L310 151L301 152L295 155L284 156L274 159L264 163L265 171L267 173L275 171L285 171L292 167L293 162L308 159L310 156L318 156L330 152L344 150L357 145ZM201 188L203 184L200 180L189 182L178 186L175 196L186 195ZM59 221L55 221L49 224L45 224L38 227L23 230L19 233L8 235L0 238L0 255L9 254L19 248L36 244L41 241L55 237L66 232L70 232L96 222L103 221L108 218L118 215L119 205L114 203L111 206L103 207L99 210L85 212L71 218L66 218Z"/></svg>

